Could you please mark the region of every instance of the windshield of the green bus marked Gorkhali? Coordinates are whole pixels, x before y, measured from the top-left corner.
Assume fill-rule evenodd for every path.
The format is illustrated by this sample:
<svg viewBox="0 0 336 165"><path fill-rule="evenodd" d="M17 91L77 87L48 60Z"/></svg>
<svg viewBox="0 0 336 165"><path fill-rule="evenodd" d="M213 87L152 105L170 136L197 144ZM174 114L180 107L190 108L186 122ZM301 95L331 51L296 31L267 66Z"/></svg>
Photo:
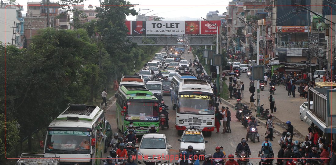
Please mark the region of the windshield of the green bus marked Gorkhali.
<svg viewBox="0 0 336 165"><path fill-rule="evenodd" d="M158 103L127 102L125 120L159 121Z"/></svg>

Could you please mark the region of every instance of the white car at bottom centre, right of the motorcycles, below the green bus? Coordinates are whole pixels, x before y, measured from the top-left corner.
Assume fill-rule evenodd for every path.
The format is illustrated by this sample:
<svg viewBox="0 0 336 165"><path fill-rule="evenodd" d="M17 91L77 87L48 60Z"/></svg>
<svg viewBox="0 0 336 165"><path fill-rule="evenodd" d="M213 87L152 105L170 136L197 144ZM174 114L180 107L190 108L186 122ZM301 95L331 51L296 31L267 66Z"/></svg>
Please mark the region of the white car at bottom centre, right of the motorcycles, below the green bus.
<svg viewBox="0 0 336 165"><path fill-rule="evenodd" d="M141 138L140 145L135 145L134 147L138 148L136 164L154 165L156 163L169 163L169 159L162 158L162 155L169 157L169 149L172 148L165 134L144 134ZM148 159L143 159L145 156L148 157Z"/></svg>

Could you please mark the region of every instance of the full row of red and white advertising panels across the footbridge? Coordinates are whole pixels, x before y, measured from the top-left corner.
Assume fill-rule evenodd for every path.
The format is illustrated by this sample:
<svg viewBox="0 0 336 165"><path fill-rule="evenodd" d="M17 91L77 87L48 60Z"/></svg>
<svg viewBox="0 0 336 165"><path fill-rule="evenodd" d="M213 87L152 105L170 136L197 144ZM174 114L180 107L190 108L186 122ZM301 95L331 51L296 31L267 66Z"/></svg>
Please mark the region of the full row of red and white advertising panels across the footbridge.
<svg viewBox="0 0 336 165"><path fill-rule="evenodd" d="M128 35L191 35L217 34L220 20L125 21Z"/></svg>

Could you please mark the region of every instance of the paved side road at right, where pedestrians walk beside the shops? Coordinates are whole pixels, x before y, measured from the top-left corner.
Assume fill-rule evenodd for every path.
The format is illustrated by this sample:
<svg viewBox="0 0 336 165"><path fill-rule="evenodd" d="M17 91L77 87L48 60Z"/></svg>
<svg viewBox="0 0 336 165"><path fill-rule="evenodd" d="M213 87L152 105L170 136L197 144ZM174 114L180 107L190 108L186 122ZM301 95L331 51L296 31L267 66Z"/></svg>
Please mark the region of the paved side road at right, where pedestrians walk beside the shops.
<svg viewBox="0 0 336 165"><path fill-rule="evenodd" d="M244 82L245 85L245 91L244 91L244 98L242 99L244 104L247 104L248 106L250 105L250 96L251 93L249 92L249 83L250 80L249 78L246 77L246 73L242 73L241 76L239 77L242 82ZM227 77L228 79L228 77ZM228 80L225 81L228 84ZM269 81L268 81L269 82ZM267 82L267 83L268 83ZM255 83L255 88L256 88L256 81ZM267 85L269 86L269 85ZM282 121L283 123L286 123L286 121L290 120L294 128L298 131L297 133L294 132L294 134L301 133L302 135L306 135L308 133L307 128L309 127L308 124L306 124L304 121L300 120L299 116L299 107L303 104L303 102L307 101L306 99L303 99L302 97L299 97L299 93L295 92L295 98L293 97L288 97L288 92L285 90L284 85L276 85L275 88L277 89L275 91L275 94L272 95L275 98L276 102L276 107L277 107L277 112L274 112L273 115ZM296 85L296 90L298 88L298 85ZM268 87L267 89L261 91L260 90L260 105L264 104L264 109L269 108L269 97L270 93L268 92ZM255 92L254 98L257 98L257 93ZM227 100L232 103L236 103L236 99L229 99ZM257 102L255 102L255 105L257 105ZM279 125L283 125L278 123ZM283 129L284 130L284 129ZM297 138L301 138L297 137Z"/></svg>

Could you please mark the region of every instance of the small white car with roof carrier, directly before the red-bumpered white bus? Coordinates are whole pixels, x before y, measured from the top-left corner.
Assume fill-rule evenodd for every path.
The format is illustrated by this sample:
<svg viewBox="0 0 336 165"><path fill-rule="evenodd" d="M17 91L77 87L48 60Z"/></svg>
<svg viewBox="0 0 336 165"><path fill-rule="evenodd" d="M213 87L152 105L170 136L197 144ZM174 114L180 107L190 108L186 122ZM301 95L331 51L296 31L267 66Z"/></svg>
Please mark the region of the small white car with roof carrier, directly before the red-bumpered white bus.
<svg viewBox="0 0 336 165"><path fill-rule="evenodd" d="M188 146L193 146L194 152L197 152L197 155L205 155L205 143L208 141L204 140L204 136L201 130L199 129L191 129L187 128L182 136L181 139L177 139L180 142L180 149L179 153L182 151L187 151Z"/></svg>

